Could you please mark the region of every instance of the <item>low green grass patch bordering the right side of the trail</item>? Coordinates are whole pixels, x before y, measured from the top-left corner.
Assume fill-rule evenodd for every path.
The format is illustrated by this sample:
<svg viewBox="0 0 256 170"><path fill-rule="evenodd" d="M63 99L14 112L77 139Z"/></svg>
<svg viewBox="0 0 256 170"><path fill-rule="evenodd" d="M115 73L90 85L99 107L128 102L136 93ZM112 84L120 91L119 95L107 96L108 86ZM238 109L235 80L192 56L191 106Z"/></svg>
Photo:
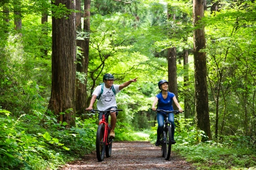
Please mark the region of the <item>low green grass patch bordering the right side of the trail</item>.
<svg viewBox="0 0 256 170"><path fill-rule="evenodd" d="M197 169L247 169L256 166L255 149L221 143L208 142L199 145L174 145L174 151L179 152Z"/></svg>

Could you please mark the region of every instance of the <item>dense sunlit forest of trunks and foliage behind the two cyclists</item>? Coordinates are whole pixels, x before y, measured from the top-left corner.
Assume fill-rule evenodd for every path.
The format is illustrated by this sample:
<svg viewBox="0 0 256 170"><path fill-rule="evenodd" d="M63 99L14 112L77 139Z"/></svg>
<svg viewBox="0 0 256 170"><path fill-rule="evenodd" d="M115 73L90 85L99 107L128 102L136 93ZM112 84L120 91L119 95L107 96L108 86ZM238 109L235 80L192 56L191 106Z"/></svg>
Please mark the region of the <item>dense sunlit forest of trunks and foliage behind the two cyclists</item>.
<svg viewBox="0 0 256 170"><path fill-rule="evenodd" d="M117 139L155 139L167 79L185 111L178 143L255 149L255 2L197 2L2 0L0 167L54 169L94 150L97 115L84 109L105 73L138 77L117 95Z"/></svg>

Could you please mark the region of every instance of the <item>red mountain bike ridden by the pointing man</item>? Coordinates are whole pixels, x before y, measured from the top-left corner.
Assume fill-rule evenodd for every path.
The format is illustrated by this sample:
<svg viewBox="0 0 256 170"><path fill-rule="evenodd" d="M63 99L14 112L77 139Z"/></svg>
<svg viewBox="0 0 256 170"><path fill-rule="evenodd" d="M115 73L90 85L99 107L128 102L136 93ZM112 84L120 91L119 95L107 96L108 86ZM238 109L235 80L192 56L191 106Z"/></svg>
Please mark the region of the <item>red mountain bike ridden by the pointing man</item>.
<svg viewBox="0 0 256 170"><path fill-rule="evenodd" d="M102 112L102 121L98 124L98 129L96 133L96 155L99 162L104 160L104 155L106 154L106 158L111 156L112 152L112 142L113 139L110 138L110 130L111 125L109 124L109 115L113 112L123 111L122 109L114 109L114 110L106 110L106 111L98 111L92 109L90 112Z"/></svg>

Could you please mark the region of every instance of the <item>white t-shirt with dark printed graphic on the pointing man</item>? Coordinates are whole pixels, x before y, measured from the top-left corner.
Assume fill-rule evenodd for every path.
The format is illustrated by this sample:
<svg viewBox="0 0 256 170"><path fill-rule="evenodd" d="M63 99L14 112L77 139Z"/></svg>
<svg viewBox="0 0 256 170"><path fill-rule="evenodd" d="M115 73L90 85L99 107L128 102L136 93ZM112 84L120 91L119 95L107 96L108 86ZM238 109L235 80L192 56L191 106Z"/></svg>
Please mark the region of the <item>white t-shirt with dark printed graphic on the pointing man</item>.
<svg viewBox="0 0 256 170"><path fill-rule="evenodd" d="M103 92L101 94L101 85L97 86L93 91L92 95L100 95L100 99L98 99L97 109L100 111L104 111L110 107L117 107L117 101L115 101L115 95L112 91L112 88L115 88L115 94L119 92L119 85L113 84L111 88L106 88L105 84L103 86Z"/></svg>

